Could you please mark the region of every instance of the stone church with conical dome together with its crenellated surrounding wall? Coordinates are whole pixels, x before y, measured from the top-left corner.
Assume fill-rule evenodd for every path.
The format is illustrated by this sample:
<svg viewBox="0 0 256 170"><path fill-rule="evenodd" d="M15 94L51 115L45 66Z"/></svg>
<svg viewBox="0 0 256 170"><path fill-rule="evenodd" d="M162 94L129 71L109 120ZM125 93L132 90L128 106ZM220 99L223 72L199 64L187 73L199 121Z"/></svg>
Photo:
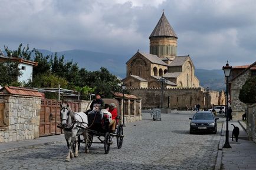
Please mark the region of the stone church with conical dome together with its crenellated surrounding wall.
<svg viewBox="0 0 256 170"><path fill-rule="evenodd" d="M177 39L163 13L149 36L150 54L138 50L126 62L122 82L127 91L142 99L142 108L192 109L199 104L209 109L223 104L224 92L199 86L191 57L177 56ZM165 81L163 88L160 78Z"/></svg>

